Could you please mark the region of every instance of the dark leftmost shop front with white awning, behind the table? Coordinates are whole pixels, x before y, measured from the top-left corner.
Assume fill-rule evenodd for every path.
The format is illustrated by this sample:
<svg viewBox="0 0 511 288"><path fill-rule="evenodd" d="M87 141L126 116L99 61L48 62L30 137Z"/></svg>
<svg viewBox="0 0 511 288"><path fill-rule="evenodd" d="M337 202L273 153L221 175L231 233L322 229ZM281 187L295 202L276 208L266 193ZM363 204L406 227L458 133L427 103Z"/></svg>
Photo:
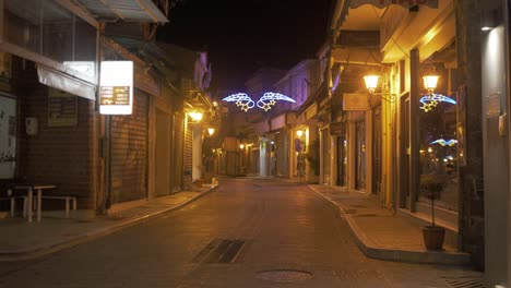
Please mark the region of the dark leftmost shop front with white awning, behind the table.
<svg viewBox="0 0 511 288"><path fill-rule="evenodd" d="M98 23L54 1L2 2L0 181L55 184L94 211Z"/></svg>

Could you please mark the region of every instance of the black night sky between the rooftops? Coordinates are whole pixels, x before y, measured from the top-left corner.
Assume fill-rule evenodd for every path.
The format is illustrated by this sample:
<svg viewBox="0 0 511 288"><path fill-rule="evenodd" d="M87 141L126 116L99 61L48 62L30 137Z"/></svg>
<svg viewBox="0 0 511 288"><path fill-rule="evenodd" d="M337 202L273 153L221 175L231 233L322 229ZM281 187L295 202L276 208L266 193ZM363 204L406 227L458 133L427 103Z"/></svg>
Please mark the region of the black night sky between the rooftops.
<svg viewBox="0 0 511 288"><path fill-rule="evenodd" d="M262 65L316 58L333 0L181 0L158 41L209 52L213 93L238 91Z"/></svg>

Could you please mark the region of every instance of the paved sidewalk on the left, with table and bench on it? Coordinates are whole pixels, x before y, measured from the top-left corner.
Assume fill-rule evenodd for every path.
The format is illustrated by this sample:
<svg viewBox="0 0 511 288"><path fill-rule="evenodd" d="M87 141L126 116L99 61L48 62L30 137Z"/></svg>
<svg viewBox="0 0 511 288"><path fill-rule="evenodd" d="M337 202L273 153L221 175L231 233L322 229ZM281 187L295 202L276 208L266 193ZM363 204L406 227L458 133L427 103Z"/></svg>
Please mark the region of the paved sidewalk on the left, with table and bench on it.
<svg viewBox="0 0 511 288"><path fill-rule="evenodd" d="M194 192L156 197L107 216L73 218L71 213L70 218L63 218L45 217L43 214L40 223L27 223L21 217L0 219L0 261L33 259L112 233L177 209L214 189L216 187L203 187Z"/></svg>

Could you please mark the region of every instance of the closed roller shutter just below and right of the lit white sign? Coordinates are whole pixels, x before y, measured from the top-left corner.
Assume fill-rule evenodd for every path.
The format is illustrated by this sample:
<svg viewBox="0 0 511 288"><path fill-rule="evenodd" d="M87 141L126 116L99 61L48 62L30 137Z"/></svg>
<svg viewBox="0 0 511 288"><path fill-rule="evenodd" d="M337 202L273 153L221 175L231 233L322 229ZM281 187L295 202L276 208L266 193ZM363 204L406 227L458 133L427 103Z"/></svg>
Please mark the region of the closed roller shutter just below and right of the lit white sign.
<svg viewBox="0 0 511 288"><path fill-rule="evenodd" d="M147 107L148 96L134 92L133 113L111 117L112 204L145 199L147 195Z"/></svg>

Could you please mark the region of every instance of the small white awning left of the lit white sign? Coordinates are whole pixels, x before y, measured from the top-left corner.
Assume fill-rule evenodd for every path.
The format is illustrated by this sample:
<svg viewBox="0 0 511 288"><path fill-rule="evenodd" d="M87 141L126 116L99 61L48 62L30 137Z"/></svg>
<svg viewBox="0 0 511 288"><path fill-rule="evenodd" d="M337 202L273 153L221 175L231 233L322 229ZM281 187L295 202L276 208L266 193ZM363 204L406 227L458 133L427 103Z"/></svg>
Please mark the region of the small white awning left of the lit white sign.
<svg viewBox="0 0 511 288"><path fill-rule="evenodd" d="M90 100L96 100L96 85L92 83L75 79L41 64L37 64L37 74L39 76L39 82L47 86L71 93Z"/></svg>

